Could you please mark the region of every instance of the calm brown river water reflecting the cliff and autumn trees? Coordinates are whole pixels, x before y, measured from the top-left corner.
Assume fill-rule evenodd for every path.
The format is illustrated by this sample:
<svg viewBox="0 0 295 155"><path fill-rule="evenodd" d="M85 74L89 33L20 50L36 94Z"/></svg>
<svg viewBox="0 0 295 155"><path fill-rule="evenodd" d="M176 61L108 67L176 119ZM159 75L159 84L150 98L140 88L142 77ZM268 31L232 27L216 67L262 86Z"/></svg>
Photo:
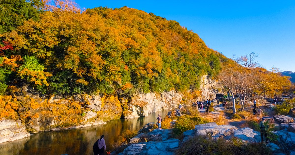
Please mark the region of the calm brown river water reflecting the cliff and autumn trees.
<svg viewBox="0 0 295 155"><path fill-rule="evenodd" d="M147 117L111 120L103 125L36 133L17 141L0 143L0 154L90 155L93 154L93 144L102 134L105 136L106 150L113 151L112 144L124 130L140 130L145 124L156 122L158 114L163 117L168 111L153 112Z"/></svg>

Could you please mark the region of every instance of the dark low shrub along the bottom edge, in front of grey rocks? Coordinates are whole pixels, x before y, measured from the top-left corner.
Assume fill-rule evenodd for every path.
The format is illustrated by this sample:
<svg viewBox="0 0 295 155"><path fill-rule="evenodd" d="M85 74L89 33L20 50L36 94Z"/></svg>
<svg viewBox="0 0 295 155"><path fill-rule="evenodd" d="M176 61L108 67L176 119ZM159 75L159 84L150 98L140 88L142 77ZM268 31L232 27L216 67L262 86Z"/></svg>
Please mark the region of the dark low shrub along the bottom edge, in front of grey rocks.
<svg viewBox="0 0 295 155"><path fill-rule="evenodd" d="M265 143L246 143L232 138L227 141L224 138L213 139L204 136L189 138L189 140L181 143L176 150L178 155L194 155L194 154L271 154L271 150Z"/></svg>

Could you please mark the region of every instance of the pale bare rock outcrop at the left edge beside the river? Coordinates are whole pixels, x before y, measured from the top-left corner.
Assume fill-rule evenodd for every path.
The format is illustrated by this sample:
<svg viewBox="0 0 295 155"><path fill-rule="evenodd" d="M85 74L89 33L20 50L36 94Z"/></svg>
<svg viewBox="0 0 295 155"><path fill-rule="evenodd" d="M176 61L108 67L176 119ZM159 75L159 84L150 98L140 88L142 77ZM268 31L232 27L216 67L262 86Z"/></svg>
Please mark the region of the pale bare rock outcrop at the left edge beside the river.
<svg viewBox="0 0 295 155"><path fill-rule="evenodd" d="M6 141L15 141L25 137L30 137L30 133L26 131L21 120L0 120L0 143Z"/></svg>

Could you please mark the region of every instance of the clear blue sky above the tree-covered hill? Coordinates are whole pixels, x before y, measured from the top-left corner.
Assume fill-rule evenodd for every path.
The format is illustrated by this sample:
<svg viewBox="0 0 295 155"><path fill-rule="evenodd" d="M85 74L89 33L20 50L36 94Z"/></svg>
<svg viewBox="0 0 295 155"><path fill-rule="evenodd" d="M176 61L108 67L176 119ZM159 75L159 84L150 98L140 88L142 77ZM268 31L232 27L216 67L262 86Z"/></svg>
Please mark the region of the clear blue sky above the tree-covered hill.
<svg viewBox="0 0 295 155"><path fill-rule="evenodd" d="M152 12L197 33L212 49L232 58L259 54L261 66L295 72L295 0L117 1L76 0L81 8L128 6Z"/></svg>

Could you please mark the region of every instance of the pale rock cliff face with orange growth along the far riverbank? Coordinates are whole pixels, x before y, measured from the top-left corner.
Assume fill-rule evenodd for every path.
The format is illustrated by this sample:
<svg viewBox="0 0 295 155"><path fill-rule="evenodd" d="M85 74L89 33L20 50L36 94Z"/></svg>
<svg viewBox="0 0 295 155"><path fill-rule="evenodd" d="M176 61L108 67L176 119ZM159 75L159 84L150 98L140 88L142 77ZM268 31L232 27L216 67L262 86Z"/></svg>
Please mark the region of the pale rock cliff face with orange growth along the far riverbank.
<svg viewBox="0 0 295 155"><path fill-rule="evenodd" d="M176 91L135 94L127 101L114 95L46 96L28 87L18 89L15 98L20 101L19 119L30 133L35 133L98 125L117 118L147 116L151 112L177 108L179 103L214 99L216 93L223 92L222 85L208 76L201 77L200 88L200 95L190 100L186 100L189 91L184 94Z"/></svg>

